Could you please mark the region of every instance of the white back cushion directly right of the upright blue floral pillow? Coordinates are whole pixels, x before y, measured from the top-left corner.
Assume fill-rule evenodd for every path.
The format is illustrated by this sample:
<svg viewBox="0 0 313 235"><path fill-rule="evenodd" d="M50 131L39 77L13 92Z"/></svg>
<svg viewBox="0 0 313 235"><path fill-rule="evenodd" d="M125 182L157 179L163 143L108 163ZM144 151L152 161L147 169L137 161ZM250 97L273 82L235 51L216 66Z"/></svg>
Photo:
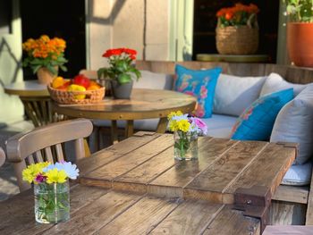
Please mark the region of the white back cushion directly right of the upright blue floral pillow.
<svg viewBox="0 0 313 235"><path fill-rule="evenodd" d="M266 77L237 77L221 74L216 84L213 112L240 116L258 99Z"/></svg>

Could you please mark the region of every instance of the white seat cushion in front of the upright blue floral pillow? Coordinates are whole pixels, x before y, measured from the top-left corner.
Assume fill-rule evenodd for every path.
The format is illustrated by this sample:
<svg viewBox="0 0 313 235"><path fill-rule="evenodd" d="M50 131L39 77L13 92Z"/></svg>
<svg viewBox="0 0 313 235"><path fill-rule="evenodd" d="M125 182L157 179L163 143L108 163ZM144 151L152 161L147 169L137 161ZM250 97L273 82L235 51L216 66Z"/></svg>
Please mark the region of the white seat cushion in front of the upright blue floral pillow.
<svg viewBox="0 0 313 235"><path fill-rule="evenodd" d="M207 123L207 136L229 138L237 117L213 114L211 118L202 120Z"/></svg>

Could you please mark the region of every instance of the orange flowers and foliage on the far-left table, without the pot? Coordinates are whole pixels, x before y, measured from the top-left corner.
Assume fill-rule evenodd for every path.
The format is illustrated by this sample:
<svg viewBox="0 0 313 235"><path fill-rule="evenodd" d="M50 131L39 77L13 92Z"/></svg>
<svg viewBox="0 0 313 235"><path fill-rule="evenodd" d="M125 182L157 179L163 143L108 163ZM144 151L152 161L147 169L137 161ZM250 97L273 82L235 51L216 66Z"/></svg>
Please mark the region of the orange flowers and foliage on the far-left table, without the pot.
<svg viewBox="0 0 313 235"><path fill-rule="evenodd" d="M63 65L67 63L63 54L65 47L66 43L62 38L50 39L47 35L42 35L38 39L30 38L22 44L23 50L28 55L23 61L23 66L30 66L34 73L41 67L46 67L55 75L57 74L56 67L67 71Z"/></svg>

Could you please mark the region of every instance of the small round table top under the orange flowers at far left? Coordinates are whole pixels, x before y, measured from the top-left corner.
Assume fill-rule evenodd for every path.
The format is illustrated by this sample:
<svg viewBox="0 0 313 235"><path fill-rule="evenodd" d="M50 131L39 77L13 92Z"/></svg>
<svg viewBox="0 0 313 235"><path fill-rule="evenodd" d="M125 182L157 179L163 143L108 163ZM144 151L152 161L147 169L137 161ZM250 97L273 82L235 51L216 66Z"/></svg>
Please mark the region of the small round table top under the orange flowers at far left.
<svg viewBox="0 0 313 235"><path fill-rule="evenodd" d="M38 83L38 80L24 80L4 86L4 92L20 97L49 97L47 85Z"/></svg>

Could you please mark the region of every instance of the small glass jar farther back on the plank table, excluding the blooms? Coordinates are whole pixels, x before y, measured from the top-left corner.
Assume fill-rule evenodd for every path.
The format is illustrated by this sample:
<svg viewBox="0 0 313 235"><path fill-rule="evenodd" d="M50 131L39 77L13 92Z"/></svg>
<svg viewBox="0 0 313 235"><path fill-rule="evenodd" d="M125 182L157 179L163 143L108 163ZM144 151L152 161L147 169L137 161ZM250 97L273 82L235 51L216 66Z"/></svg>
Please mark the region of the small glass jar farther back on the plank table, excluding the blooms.
<svg viewBox="0 0 313 235"><path fill-rule="evenodd" d="M173 155L175 159L198 159L198 135L196 132L174 131L173 140Z"/></svg>

